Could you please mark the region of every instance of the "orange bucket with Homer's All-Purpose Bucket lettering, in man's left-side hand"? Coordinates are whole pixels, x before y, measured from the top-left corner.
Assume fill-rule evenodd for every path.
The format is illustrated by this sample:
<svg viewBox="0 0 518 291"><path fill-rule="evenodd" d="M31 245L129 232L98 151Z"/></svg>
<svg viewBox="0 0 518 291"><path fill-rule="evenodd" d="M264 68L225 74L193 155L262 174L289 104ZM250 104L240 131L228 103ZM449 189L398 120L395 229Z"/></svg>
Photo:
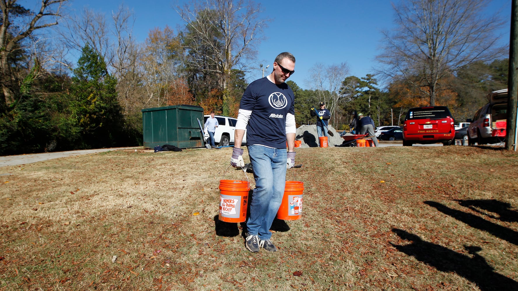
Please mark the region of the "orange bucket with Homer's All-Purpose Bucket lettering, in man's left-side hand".
<svg viewBox="0 0 518 291"><path fill-rule="evenodd" d="M239 180L220 180L220 211L218 218L225 222L247 220L250 183Z"/></svg>

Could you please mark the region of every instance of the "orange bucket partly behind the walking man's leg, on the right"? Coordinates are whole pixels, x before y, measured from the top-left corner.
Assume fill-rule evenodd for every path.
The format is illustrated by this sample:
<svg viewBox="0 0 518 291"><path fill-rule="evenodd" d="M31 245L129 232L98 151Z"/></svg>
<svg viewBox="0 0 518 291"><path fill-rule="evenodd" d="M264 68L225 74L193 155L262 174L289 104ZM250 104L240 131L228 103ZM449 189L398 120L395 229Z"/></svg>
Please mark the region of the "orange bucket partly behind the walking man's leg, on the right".
<svg viewBox="0 0 518 291"><path fill-rule="evenodd" d="M302 198L304 182L286 181L281 206L277 218L282 220L297 220L302 216Z"/></svg>

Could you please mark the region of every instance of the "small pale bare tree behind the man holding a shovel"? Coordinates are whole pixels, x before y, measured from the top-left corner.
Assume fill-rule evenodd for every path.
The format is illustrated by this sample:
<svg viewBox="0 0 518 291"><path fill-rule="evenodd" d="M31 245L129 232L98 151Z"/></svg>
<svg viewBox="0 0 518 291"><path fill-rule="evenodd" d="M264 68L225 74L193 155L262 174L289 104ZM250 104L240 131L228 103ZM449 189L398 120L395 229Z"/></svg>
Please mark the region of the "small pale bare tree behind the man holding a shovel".
<svg viewBox="0 0 518 291"><path fill-rule="evenodd" d="M335 113L339 110L339 101L344 96L340 90L343 80L349 75L349 66L347 63L329 66L315 64L311 67L309 75L310 79L306 82L315 90L320 101L326 103L327 109L331 112L332 123L336 124L339 116L335 116Z"/></svg>

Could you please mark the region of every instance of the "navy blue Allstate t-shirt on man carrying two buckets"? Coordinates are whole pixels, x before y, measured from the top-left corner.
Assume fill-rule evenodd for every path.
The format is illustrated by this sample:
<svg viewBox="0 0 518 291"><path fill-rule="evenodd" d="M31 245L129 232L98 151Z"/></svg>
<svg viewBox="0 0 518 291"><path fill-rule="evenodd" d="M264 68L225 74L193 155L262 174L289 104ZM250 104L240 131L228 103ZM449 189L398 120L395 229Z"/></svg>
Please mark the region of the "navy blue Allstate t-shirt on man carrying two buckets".
<svg viewBox="0 0 518 291"><path fill-rule="evenodd" d="M266 77L244 90L239 109L250 110L247 145L286 148L286 114L295 115L295 97L286 83L275 84Z"/></svg>

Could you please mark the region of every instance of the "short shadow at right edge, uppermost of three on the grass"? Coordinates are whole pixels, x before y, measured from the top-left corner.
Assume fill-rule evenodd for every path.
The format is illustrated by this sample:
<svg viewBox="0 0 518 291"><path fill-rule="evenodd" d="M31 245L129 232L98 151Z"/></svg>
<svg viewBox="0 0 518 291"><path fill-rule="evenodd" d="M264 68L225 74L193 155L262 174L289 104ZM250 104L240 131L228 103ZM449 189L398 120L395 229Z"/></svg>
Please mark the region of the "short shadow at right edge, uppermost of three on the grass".
<svg viewBox="0 0 518 291"><path fill-rule="evenodd" d="M467 207L475 212L478 212L487 217L498 219L500 221L518 222L518 211L511 209L511 204L501 202L495 199L484 200L455 200L459 205ZM479 209L484 209L488 212L497 213L497 216L485 213Z"/></svg>

